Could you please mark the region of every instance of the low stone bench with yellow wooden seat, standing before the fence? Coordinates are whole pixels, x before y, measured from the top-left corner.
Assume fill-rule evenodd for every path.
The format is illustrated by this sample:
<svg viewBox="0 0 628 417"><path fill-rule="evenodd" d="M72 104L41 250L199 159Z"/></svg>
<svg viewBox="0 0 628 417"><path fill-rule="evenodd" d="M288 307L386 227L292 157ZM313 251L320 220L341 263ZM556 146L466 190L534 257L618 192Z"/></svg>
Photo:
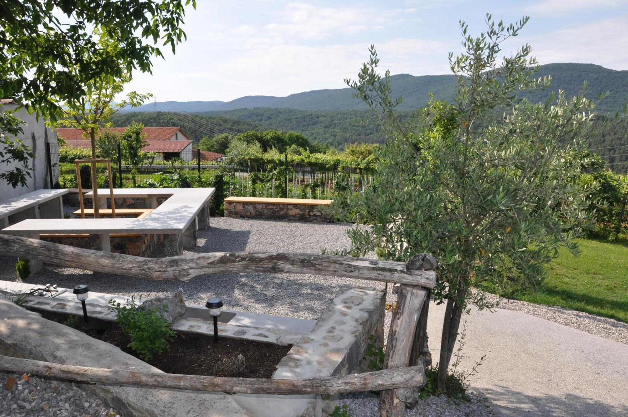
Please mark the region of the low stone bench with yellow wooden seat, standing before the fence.
<svg viewBox="0 0 628 417"><path fill-rule="evenodd" d="M332 213L323 208L332 202L308 198L227 197L225 217L333 222Z"/></svg>

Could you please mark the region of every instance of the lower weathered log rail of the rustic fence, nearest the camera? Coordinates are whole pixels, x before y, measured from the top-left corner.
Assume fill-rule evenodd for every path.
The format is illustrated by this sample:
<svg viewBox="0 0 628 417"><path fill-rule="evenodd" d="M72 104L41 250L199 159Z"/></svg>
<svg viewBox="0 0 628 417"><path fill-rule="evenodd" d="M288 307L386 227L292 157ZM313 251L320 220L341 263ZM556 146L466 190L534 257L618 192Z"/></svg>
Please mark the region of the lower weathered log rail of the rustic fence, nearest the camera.
<svg viewBox="0 0 628 417"><path fill-rule="evenodd" d="M0 355L3 371L35 374L72 381L127 384L192 391L213 391L234 394L344 394L358 391L381 391L425 384L422 366L403 369L384 369L332 377L304 379L226 378L198 375L165 374L161 372L133 371L132 369L106 369L74 366L21 359Z"/></svg>

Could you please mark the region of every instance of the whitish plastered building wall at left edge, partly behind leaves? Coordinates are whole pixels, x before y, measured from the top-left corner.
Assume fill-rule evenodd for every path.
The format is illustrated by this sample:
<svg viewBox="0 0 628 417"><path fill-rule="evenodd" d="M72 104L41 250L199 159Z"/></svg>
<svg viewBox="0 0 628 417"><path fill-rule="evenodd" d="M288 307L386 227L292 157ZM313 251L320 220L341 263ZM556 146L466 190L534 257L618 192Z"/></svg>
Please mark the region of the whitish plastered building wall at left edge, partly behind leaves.
<svg viewBox="0 0 628 417"><path fill-rule="evenodd" d="M3 104L0 106L0 111L15 109L17 104ZM5 180L0 180L0 201L7 200L8 198L18 197L18 195L33 192L35 190L41 190L41 188L50 188L48 185L48 162L46 160L46 142L54 144L51 146L52 160L57 161L57 133L46 127L43 119L37 121L35 114L28 114L24 109L21 109L14 116L19 117L24 121L22 129L24 133L18 135L18 138L24 141L31 150L35 153L35 158L31 160L30 167L33 168L31 175L33 178L28 178L26 187L13 188L6 183ZM0 145L1 146L1 145ZM0 171L12 170L15 165L2 165ZM57 180L58 169L53 168L53 176L55 176L53 183Z"/></svg>

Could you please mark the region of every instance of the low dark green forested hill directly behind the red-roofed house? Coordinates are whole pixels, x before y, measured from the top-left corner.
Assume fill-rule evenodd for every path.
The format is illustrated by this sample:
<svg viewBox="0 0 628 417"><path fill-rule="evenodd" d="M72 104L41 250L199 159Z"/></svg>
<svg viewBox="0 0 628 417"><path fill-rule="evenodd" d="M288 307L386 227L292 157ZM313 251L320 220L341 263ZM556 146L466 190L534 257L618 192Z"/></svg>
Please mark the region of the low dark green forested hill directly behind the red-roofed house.
<svg viewBox="0 0 628 417"><path fill-rule="evenodd" d="M119 112L111 117L114 127L130 126L133 121L141 122L149 127L180 126L194 143L198 143L203 136L215 136L220 133L236 135L257 129L256 124L244 120L174 112Z"/></svg>

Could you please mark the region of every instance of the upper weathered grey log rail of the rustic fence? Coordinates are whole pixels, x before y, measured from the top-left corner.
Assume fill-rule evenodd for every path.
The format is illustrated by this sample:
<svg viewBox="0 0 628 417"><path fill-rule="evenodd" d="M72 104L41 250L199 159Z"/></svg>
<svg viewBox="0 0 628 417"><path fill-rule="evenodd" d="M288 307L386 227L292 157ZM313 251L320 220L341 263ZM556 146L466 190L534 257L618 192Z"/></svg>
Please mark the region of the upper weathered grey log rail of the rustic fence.
<svg viewBox="0 0 628 417"><path fill-rule="evenodd" d="M165 281L190 281L205 274L320 274L433 288L434 271L406 264L348 256L281 252L212 252L160 259L92 251L80 247L0 234L0 254L45 263Z"/></svg>

